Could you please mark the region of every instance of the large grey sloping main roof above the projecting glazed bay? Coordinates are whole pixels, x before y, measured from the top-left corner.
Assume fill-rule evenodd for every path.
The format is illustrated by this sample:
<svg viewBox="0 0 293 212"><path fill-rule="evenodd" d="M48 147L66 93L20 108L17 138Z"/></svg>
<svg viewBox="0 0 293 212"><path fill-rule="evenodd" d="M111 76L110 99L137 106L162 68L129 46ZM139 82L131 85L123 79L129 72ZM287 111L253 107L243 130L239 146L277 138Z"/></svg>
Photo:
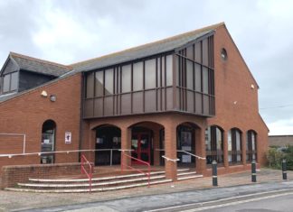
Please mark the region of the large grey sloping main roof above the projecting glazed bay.
<svg viewBox="0 0 293 212"><path fill-rule="evenodd" d="M126 62L129 60L137 60L167 51L174 51L176 48L182 47L190 41L194 41L207 35L224 23L213 24L192 32L185 32L161 41L154 41L145 45L137 46L125 51L118 51L99 58L85 60L78 63L71 64L76 71L86 71L92 69L99 69L110 65Z"/></svg>

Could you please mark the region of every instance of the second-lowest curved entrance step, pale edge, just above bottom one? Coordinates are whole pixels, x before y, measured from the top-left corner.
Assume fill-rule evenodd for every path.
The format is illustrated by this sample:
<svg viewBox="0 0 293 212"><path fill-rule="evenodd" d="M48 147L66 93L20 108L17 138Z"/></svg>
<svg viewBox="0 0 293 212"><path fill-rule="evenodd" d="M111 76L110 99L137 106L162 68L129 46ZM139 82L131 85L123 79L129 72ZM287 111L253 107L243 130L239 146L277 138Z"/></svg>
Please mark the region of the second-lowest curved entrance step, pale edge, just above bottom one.
<svg viewBox="0 0 293 212"><path fill-rule="evenodd" d="M159 179L165 179L165 175L156 175L156 176L151 176L150 180L159 180ZM92 187L98 187L98 186L103 186L107 187L110 185L115 185L115 184L126 184L126 183L133 183L137 181L146 181L148 180L147 177L143 178L135 178L135 179L128 179L128 180L114 180L114 181L105 181L105 182L92 182L91 186ZM17 183L18 186L20 187L25 187L25 188L55 188L55 189L62 189L62 188L79 188L79 187L89 187L90 183L89 181L86 181L85 183L72 183L72 184L52 184L52 183Z"/></svg>

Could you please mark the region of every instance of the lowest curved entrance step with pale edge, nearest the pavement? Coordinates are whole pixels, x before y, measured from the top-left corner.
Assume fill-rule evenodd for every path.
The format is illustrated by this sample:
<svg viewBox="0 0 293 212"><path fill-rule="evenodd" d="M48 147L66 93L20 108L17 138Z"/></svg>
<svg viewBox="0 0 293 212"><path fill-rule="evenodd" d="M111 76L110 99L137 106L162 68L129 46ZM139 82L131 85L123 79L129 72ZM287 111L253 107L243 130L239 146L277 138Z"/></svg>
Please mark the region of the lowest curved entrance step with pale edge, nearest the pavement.
<svg viewBox="0 0 293 212"><path fill-rule="evenodd" d="M156 181L151 181L150 185L167 183L171 181L172 180L156 180ZM130 189L130 188L136 188L136 187L143 187L147 185L148 185L147 182L142 182L142 183L136 183L136 184L130 184L130 185L118 186L118 187L94 188L94 189L91 189L91 191L98 192L98 191L108 191L108 190L117 190L117 189ZM25 191L25 192L35 192L35 193L81 193L81 192L90 191L90 189L22 189L22 188L5 188L5 190L23 191L23 192Z"/></svg>

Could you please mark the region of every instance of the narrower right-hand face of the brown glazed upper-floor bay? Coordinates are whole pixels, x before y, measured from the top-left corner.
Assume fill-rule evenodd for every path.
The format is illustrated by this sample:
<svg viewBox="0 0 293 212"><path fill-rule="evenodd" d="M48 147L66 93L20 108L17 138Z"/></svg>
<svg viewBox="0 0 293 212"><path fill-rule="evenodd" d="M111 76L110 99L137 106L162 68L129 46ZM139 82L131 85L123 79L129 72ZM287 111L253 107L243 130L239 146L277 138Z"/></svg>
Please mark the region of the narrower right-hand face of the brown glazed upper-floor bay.
<svg viewBox="0 0 293 212"><path fill-rule="evenodd" d="M176 108L214 115L213 37L178 51L175 56Z"/></svg>

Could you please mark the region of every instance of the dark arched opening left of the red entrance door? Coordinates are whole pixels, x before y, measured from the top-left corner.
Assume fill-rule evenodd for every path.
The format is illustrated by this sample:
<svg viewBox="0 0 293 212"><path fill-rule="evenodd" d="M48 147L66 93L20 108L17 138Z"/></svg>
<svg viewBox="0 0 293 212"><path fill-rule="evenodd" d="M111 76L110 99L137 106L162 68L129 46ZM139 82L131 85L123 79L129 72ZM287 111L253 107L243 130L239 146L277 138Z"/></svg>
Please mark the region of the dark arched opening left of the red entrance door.
<svg viewBox="0 0 293 212"><path fill-rule="evenodd" d="M95 165L120 164L121 130L114 125L96 128Z"/></svg>

